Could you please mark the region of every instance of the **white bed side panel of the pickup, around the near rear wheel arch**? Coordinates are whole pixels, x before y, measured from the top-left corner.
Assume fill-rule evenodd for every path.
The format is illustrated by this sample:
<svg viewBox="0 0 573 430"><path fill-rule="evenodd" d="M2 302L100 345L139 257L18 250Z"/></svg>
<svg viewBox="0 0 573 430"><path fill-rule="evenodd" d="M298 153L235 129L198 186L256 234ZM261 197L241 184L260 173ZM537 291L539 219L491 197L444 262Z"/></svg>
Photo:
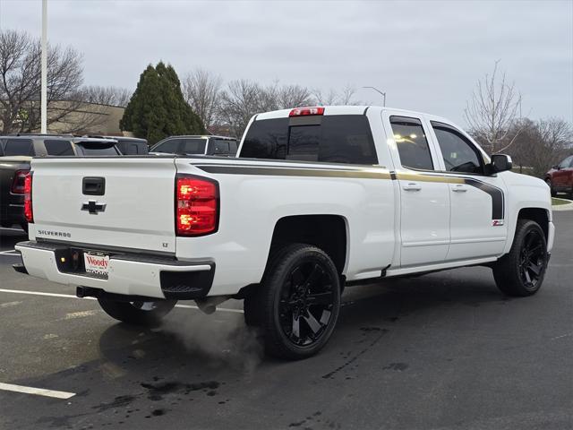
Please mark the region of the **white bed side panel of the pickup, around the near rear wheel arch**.
<svg viewBox="0 0 573 430"><path fill-rule="evenodd" d="M278 219L292 215L328 214L345 220L344 273L348 280L375 276L372 273L380 276L392 260L394 185L389 179L210 174L196 160L194 164L198 167L191 160L177 159L177 172L218 181L219 227L209 236L177 237L176 254L182 260L216 262L213 296L234 294L238 288L261 281ZM256 166L261 162L217 161L217 166L225 164ZM285 167L278 163L278 169ZM389 176L387 169L376 171Z"/></svg>

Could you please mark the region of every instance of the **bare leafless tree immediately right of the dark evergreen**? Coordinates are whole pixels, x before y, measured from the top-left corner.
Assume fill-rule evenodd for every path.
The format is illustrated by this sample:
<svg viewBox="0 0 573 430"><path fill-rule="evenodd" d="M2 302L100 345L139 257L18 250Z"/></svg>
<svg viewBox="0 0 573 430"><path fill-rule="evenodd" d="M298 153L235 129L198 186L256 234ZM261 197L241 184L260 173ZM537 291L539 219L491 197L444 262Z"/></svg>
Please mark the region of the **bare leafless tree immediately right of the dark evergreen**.
<svg viewBox="0 0 573 430"><path fill-rule="evenodd" d="M185 101L201 118L208 130L217 122L222 82L220 76L204 69L188 73L183 80Z"/></svg>

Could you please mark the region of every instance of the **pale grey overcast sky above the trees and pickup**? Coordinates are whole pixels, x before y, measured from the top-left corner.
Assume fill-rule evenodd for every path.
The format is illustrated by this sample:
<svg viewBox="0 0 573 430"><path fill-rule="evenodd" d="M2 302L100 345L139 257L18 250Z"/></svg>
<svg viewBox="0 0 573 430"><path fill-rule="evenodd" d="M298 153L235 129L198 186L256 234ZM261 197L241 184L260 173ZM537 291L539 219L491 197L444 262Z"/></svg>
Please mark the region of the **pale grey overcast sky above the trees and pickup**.
<svg viewBox="0 0 573 430"><path fill-rule="evenodd" d="M41 34L39 0L0 0L0 28ZM147 64L180 76L388 93L387 104L465 125L475 82L494 61L523 113L573 121L573 0L194 2L48 0L48 38L83 54L85 83L134 89Z"/></svg>

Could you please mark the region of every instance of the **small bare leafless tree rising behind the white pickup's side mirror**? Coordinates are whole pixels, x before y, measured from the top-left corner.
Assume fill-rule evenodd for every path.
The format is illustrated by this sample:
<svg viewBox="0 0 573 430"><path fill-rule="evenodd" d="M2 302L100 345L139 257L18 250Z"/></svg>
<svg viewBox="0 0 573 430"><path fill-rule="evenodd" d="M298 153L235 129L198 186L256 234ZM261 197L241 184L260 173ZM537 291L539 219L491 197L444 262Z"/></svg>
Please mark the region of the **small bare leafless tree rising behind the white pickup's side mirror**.
<svg viewBox="0 0 573 430"><path fill-rule="evenodd" d="M492 74L486 73L479 80L466 102L465 116L472 133L490 153L506 150L515 142L519 131L507 142L509 131L520 115L521 95L515 83L509 83L506 73L498 73L500 60L495 62ZM506 141L504 145L501 142Z"/></svg>

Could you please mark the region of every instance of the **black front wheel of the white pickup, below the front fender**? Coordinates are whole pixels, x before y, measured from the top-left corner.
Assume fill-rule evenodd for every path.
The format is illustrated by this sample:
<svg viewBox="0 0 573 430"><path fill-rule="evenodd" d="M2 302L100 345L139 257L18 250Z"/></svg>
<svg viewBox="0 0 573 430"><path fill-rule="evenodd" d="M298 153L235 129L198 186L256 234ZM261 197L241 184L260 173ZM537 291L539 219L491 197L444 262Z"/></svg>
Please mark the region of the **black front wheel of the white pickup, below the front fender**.
<svg viewBox="0 0 573 430"><path fill-rule="evenodd" d="M546 269L543 230L535 221L519 219L509 254L493 266L495 283L508 296L531 296L541 288Z"/></svg>

